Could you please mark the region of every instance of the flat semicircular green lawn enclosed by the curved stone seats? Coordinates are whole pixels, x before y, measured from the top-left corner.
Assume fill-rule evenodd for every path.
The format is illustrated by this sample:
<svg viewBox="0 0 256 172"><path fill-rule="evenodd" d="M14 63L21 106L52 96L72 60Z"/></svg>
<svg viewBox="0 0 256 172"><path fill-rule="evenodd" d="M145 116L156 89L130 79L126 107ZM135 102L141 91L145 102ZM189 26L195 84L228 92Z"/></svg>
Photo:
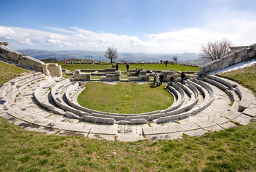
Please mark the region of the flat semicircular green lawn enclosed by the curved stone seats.
<svg viewBox="0 0 256 172"><path fill-rule="evenodd" d="M166 85L153 87L151 82L86 82L77 101L83 107L108 113L147 113L169 108L174 97L164 90Z"/></svg>

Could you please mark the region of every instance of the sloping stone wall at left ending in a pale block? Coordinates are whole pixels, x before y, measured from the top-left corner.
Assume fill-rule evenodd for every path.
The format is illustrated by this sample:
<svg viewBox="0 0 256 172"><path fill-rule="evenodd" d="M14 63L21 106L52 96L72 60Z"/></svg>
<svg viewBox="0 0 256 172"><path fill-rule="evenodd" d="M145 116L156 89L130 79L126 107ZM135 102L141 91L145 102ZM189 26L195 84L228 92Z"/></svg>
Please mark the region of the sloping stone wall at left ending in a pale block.
<svg viewBox="0 0 256 172"><path fill-rule="evenodd" d="M7 62L13 62L20 67L24 67L30 70L36 70L43 72L45 75L52 75L52 77L61 77L62 69L57 64L44 64L44 62L33 57L23 55L21 52L16 52L13 49L7 47L8 42L0 42L0 59L4 59Z"/></svg>

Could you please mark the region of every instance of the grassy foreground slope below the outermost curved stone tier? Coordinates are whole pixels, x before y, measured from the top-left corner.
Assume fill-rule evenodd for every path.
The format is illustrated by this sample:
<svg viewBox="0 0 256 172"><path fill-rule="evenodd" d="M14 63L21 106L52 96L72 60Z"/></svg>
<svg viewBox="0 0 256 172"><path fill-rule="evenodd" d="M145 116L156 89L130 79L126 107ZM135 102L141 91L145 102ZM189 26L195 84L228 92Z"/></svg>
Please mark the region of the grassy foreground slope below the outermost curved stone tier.
<svg viewBox="0 0 256 172"><path fill-rule="evenodd" d="M256 171L256 123L179 140L122 143L29 132L0 118L0 140L0 171Z"/></svg>

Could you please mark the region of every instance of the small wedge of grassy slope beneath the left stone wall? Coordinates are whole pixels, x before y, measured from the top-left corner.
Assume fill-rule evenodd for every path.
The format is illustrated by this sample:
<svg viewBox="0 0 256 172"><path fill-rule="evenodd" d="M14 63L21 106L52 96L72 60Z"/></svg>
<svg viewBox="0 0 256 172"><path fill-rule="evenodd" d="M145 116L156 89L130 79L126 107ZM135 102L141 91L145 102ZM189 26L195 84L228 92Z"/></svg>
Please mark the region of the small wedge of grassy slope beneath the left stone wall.
<svg viewBox="0 0 256 172"><path fill-rule="evenodd" d="M0 62L0 85L8 82L9 80L24 72L29 71L20 67L16 67L15 65L9 65L5 62Z"/></svg>

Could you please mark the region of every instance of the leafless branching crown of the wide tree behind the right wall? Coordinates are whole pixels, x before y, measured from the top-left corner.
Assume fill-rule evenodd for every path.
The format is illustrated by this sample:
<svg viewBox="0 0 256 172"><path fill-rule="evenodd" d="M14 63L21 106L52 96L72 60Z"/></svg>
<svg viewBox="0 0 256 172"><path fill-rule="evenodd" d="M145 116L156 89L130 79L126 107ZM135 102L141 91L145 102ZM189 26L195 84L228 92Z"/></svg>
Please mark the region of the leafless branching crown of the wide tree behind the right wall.
<svg viewBox="0 0 256 172"><path fill-rule="evenodd" d="M217 42L208 42L207 46L202 46L200 49L199 56L202 59L221 59L229 53L229 47L231 47L232 42L224 38Z"/></svg>

